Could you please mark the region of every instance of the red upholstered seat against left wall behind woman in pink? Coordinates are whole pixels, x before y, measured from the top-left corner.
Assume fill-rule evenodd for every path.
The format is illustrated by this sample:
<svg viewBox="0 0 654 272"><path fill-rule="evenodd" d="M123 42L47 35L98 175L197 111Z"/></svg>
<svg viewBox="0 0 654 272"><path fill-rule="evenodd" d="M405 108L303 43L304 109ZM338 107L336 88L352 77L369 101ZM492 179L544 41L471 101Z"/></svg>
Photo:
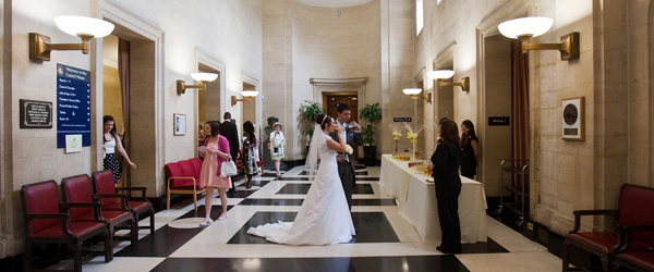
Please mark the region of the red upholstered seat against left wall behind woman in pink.
<svg viewBox="0 0 654 272"><path fill-rule="evenodd" d="M168 181L167 209L170 209L170 194L190 194L193 195L193 207L197 210L197 194L205 191L205 188L199 184L202 160L193 158L170 162L164 169Z"/></svg>

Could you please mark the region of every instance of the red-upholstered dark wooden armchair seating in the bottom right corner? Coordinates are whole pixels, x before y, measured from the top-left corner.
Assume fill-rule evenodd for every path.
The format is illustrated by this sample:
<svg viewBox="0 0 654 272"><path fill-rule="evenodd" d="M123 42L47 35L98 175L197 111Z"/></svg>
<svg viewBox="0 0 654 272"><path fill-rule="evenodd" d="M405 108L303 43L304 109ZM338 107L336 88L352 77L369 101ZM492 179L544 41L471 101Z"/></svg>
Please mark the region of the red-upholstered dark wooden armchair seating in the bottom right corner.
<svg viewBox="0 0 654 272"><path fill-rule="evenodd" d="M616 232L579 232L582 215L609 215L618 221ZM616 254L618 252L649 252L654 251L654 231L638 231L629 234L628 230L639 226L654 225L654 188L625 184L620 189L618 210L585 210L574 211L574 228L564 243L564 272L573 270L569 268L570 246L579 247L602 258L604 271L610 271ZM634 256L625 255L621 260L627 261ZM654 262L654 259L650 259ZM579 269L574 269L579 270ZM651 271L651 270L650 270Z"/></svg>

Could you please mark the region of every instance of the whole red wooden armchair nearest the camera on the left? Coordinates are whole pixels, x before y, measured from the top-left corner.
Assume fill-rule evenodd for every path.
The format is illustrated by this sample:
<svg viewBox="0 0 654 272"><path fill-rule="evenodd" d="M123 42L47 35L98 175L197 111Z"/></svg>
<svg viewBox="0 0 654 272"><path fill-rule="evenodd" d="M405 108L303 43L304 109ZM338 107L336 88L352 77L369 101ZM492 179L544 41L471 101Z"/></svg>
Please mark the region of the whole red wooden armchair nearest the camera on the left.
<svg viewBox="0 0 654 272"><path fill-rule="evenodd" d="M105 236L105 262L113 259L111 233L100 218L99 203L60 203L55 181L24 185L21 188L25 222L24 271L33 271L32 244L66 244L73 249L73 271L82 271L82 245L96 236ZM89 221L71 221L72 207L92 209Z"/></svg>

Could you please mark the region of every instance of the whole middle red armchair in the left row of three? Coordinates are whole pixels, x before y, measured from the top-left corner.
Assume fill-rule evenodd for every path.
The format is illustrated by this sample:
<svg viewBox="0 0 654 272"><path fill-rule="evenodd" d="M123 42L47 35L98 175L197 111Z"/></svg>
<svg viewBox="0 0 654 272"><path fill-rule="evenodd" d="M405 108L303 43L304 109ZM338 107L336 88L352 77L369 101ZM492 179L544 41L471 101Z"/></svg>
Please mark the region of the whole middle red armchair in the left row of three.
<svg viewBox="0 0 654 272"><path fill-rule="evenodd" d="M124 194L92 194L90 178L87 174L75 175L64 177L61 182L63 187L63 199L68 202L95 202L100 203L99 199L102 198L120 198L121 210L106 211L101 210L100 217L107 222L107 228L109 233L113 234L113 230L117 225L129 224L131 226L130 233L130 246L135 247L138 239L138 232L136 231L136 219L132 213L132 210L128 208L128 199ZM71 208L71 221L72 222L85 222L89 221L92 212L88 208ZM119 237L119 239L124 239Z"/></svg>

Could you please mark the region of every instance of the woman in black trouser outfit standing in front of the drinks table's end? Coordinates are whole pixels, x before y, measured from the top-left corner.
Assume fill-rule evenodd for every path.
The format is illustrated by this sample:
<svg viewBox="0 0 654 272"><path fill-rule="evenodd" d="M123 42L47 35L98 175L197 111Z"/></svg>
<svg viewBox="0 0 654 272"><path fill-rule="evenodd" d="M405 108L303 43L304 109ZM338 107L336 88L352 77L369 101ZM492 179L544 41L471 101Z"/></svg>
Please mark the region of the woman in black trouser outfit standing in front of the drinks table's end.
<svg viewBox="0 0 654 272"><path fill-rule="evenodd" d="M436 202L443 233L441 244L437 250L445 254L461 252L461 224L459 222L459 195L461 177L459 161L461 160L460 140L457 123L441 120L438 124L441 143L432 154L429 169L434 170L436 185Z"/></svg>

